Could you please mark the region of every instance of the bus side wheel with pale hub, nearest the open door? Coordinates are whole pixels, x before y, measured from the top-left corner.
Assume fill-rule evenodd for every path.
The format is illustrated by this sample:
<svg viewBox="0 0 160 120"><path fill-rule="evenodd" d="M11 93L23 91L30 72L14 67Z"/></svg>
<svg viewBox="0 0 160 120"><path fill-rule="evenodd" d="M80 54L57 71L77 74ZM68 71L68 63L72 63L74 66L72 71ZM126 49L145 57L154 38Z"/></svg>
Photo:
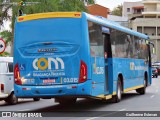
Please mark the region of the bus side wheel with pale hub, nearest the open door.
<svg viewBox="0 0 160 120"><path fill-rule="evenodd" d="M117 94L115 96L113 96L113 98L112 98L112 102L114 102L114 103L118 103L122 99L122 83L121 83L120 78L118 78L116 93Z"/></svg>

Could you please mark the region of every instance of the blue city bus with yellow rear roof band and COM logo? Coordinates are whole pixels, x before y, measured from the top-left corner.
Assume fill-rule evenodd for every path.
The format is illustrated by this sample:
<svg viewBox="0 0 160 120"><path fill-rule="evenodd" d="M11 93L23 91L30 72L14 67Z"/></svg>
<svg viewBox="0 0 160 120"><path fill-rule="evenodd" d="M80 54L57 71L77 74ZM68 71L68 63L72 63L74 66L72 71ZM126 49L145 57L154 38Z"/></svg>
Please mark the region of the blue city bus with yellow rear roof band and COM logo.
<svg viewBox="0 0 160 120"><path fill-rule="evenodd" d="M85 12L19 16L14 36L18 98L111 99L151 85L149 37Z"/></svg>

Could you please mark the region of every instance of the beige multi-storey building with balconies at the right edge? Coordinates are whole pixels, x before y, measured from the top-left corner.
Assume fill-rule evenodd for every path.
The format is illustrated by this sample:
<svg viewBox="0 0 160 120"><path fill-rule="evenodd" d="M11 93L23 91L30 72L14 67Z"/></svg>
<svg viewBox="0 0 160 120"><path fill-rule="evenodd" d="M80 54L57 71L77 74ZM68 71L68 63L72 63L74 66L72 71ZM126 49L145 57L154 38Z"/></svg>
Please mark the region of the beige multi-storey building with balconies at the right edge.
<svg viewBox="0 0 160 120"><path fill-rule="evenodd" d="M143 0L137 5L132 6L132 10L138 10L138 14L133 11L127 14L130 19L129 27L150 37L150 41L155 45L156 53L152 54L152 61L160 61L160 54L158 54L160 51L160 0ZM124 15L126 15L125 12Z"/></svg>

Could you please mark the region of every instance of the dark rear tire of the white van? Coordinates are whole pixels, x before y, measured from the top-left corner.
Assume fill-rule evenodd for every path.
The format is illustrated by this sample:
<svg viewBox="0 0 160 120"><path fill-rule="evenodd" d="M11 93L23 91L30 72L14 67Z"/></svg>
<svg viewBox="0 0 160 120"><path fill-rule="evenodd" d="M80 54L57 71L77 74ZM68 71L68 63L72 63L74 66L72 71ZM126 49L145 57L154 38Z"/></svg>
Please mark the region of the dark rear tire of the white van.
<svg viewBox="0 0 160 120"><path fill-rule="evenodd" d="M14 92L12 92L10 96L7 99L5 99L5 102L10 105L15 105L18 103L18 98L14 95Z"/></svg>

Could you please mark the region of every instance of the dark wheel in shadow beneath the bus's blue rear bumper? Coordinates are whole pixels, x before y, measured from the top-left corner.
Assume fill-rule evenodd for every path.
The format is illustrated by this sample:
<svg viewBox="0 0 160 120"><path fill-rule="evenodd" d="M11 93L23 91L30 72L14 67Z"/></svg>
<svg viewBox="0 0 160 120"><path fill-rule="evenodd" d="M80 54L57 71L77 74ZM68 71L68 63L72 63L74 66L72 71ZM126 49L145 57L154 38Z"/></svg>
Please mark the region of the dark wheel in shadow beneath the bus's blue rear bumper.
<svg viewBox="0 0 160 120"><path fill-rule="evenodd" d="M71 105L76 103L77 98L55 98L55 102L61 105Z"/></svg>

